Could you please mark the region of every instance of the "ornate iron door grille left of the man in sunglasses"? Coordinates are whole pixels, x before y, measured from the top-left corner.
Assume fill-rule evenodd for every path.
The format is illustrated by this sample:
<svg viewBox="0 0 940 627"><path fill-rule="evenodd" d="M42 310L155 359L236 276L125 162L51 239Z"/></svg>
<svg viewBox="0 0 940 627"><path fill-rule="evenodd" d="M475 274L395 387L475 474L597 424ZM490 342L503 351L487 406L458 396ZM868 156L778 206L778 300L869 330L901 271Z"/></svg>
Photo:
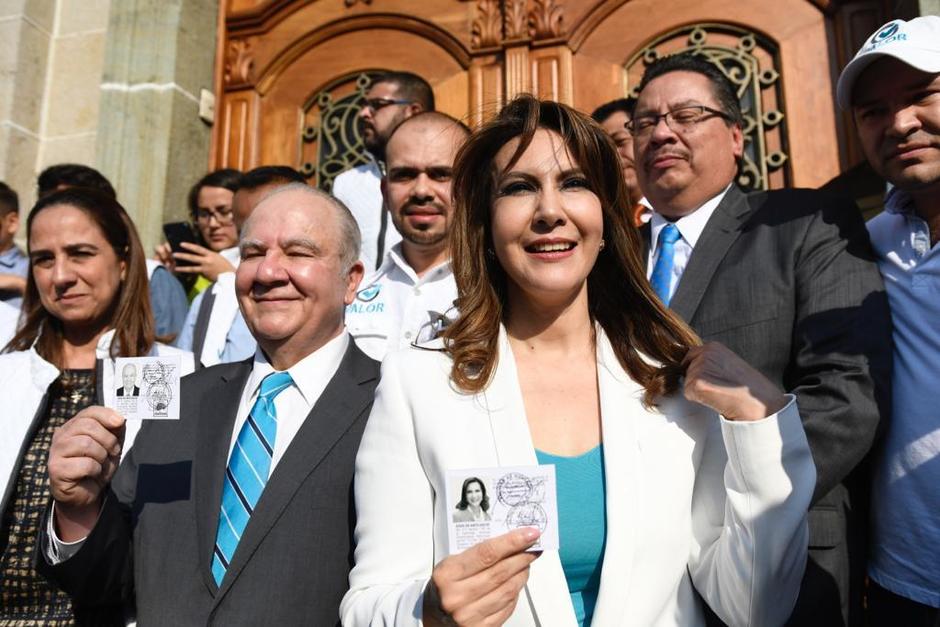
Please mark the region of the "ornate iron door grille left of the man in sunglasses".
<svg viewBox="0 0 940 627"><path fill-rule="evenodd" d="M324 191L340 172L369 161L358 124L371 78L379 71L336 79L304 105L301 172Z"/></svg>

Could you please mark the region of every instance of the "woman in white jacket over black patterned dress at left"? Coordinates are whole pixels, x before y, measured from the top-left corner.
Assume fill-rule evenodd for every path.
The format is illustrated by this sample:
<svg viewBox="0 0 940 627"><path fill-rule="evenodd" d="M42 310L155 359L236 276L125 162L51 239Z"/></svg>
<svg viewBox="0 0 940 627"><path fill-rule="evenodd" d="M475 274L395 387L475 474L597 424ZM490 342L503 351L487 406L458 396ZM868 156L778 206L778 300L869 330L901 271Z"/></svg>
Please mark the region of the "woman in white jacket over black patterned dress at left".
<svg viewBox="0 0 940 627"><path fill-rule="evenodd" d="M83 614L33 570L36 525L50 502L48 448L58 425L116 387L115 357L179 355L185 374L193 370L192 354L155 341L144 251L115 200L81 189L56 192L36 204L26 230L22 326L0 355L0 622L123 624L121 608ZM128 423L122 454L139 424Z"/></svg>

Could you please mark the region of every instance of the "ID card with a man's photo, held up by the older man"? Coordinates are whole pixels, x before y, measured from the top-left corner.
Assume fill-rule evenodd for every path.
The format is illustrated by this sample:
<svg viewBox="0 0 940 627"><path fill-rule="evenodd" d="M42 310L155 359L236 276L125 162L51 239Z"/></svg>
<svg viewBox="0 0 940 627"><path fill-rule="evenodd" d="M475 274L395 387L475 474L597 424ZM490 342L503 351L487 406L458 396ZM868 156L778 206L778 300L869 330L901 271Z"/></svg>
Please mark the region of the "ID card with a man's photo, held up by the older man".
<svg viewBox="0 0 940 627"><path fill-rule="evenodd" d="M118 357L105 405L128 420L179 420L180 358Z"/></svg>

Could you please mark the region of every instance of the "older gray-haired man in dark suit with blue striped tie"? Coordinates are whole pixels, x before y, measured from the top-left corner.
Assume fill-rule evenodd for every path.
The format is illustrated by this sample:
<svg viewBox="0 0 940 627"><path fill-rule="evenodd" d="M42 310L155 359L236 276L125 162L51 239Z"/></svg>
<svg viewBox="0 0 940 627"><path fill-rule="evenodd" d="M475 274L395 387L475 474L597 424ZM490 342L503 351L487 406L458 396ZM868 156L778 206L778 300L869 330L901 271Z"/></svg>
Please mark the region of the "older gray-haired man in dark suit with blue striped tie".
<svg viewBox="0 0 940 627"><path fill-rule="evenodd" d="M182 382L181 419L88 408L55 436L41 568L143 625L331 625L351 561L353 463L378 363L343 324L359 231L335 199L275 190L245 226L236 292L255 356ZM132 550L133 547L133 550Z"/></svg>

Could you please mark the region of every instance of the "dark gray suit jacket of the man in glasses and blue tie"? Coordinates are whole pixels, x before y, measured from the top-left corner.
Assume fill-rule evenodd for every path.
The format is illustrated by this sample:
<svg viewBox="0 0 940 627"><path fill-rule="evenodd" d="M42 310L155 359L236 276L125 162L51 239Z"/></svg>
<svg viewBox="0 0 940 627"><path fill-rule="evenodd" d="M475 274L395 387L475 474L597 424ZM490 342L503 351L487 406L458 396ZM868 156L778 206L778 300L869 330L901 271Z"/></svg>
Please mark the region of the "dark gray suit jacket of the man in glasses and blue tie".
<svg viewBox="0 0 940 627"><path fill-rule="evenodd" d="M644 227L649 243L649 226ZM712 214L670 307L797 404L818 479L810 560L792 625L857 624L866 458L890 408L891 318L865 225L812 190L745 195Z"/></svg>

